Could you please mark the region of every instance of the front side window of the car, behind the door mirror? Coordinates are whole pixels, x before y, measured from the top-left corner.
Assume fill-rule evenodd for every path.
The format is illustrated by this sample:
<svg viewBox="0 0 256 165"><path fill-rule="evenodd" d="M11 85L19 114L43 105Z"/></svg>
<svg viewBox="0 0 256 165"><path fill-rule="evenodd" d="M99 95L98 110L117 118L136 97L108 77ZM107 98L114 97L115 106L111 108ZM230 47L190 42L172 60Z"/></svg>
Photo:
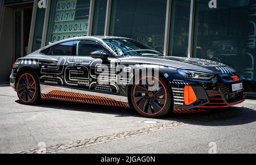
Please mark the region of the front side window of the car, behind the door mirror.
<svg viewBox="0 0 256 165"><path fill-rule="evenodd" d="M105 48L95 41L82 40L77 42L77 56L90 56L90 53Z"/></svg>

